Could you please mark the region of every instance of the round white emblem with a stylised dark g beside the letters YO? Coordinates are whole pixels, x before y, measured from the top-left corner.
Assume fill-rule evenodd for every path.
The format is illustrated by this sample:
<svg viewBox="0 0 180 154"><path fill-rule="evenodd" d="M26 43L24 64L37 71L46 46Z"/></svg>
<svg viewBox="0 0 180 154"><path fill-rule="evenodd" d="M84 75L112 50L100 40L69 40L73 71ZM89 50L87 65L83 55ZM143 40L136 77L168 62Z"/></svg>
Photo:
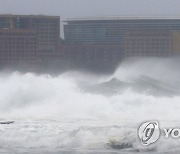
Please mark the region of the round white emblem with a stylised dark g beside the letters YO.
<svg viewBox="0 0 180 154"><path fill-rule="evenodd" d="M155 143L160 137L160 128L157 121L143 123L138 130L138 135L143 145Z"/></svg>

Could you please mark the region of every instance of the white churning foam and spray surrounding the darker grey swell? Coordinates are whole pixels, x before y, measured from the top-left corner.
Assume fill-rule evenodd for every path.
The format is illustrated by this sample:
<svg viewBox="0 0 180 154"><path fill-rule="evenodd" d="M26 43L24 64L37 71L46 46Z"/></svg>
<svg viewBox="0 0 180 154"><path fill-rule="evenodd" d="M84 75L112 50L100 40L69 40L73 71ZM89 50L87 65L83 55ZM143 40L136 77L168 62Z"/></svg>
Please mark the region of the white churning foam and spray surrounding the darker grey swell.
<svg viewBox="0 0 180 154"><path fill-rule="evenodd" d="M91 78L88 75L86 78L84 74L83 82L100 83L114 77L133 81L133 78L146 75L179 89L177 64L177 59L157 58L123 63L112 76ZM90 93L79 87L82 73L76 73L75 77L73 74L51 77L1 73L0 119L16 121L0 128L3 148L108 149L117 142L122 149L142 150L136 136L141 122L159 120L162 125L179 124L178 95L156 97L131 88L112 96ZM166 151L178 146L175 141L163 140L150 149Z"/></svg>

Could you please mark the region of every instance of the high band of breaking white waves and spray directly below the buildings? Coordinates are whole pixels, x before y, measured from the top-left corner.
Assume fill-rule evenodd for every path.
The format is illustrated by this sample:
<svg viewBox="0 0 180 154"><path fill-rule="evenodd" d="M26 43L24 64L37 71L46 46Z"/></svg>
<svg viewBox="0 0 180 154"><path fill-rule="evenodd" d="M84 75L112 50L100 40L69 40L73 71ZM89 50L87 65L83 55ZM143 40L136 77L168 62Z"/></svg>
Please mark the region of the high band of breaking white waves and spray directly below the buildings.
<svg viewBox="0 0 180 154"><path fill-rule="evenodd" d="M114 75L101 77L77 72L64 73L58 77L33 73L2 73L1 118L178 120L180 84L177 83L180 82L180 71L174 63L174 59L148 59L131 64L124 63ZM120 82L115 83L119 87L123 82L128 82L133 84L134 88L130 85L120 91L114 88L114 83L111 82L113 78ZM104 83L107 84L106 87L102 85ZM82 84L86 86L86 90L82 88ZM115 89L116 93L109 96L101 91L96 92L91 89L95 84L102 90ZM159 97L147 93L153 86L156 86L154 89L158 92L167 85L166 89L177 93L170 97L166 97L166 93Z"/></svg>

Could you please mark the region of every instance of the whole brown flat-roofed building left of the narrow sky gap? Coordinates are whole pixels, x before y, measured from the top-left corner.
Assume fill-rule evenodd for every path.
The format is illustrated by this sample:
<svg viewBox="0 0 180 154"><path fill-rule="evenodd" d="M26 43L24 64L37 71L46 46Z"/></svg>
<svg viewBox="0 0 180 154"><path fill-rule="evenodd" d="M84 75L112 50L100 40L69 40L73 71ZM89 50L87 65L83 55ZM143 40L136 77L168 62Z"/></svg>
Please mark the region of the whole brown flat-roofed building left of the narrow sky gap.
<svg viewBox="0 0 180 154"><path fill-rule="evenodd" d="M0 15L2 66L46 63L50 53L58 51L59 41L59 16Z"/></svg>

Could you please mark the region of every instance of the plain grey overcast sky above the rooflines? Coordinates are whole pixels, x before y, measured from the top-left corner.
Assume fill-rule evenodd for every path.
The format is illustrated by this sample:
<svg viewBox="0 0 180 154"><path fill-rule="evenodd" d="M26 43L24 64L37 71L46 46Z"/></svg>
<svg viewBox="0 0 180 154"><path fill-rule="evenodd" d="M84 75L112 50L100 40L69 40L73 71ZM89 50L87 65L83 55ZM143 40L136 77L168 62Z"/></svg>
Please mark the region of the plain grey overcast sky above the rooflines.
<svg viewBox="0 0 180 154"><path fill-rule="evenodd" d="M61 17L180 16L180 0L0 0L0 13Z"/></svg>

